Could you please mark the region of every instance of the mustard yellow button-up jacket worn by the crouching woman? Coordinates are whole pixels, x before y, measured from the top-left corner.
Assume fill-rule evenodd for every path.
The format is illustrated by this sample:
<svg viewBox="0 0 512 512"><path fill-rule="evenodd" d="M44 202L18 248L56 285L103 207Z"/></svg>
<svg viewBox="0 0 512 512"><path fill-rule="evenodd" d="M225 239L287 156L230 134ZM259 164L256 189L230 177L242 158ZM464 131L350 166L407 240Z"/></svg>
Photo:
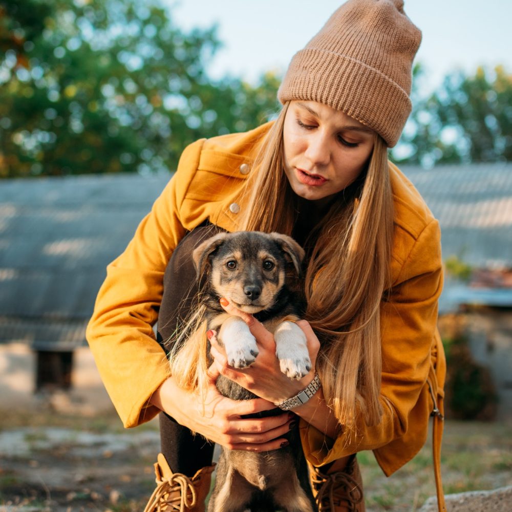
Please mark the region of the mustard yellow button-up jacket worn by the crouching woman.
<svg viewBox="0 0 512 512"><path fill-rule="evenodd" d="M177 172L140 223L126 250L107 268L87 339L124 426L159 410L148 404L169 375L155 340L164 271L187 230L206 219L236 230L240 197L258 145L269 128L201 139L182 154ZM243 165L245 164L245 165ZM427 379L444 382L444 354L437 333L442 286L437 221L412 184L390 165L395 208L391 301L382 303L381 423L341 433L326 444L323 433L301 421L306 457L315 465L373 450L386 475L410 460L426 439L433 409ZM437 386L434 386L436 389Z"/></svg>

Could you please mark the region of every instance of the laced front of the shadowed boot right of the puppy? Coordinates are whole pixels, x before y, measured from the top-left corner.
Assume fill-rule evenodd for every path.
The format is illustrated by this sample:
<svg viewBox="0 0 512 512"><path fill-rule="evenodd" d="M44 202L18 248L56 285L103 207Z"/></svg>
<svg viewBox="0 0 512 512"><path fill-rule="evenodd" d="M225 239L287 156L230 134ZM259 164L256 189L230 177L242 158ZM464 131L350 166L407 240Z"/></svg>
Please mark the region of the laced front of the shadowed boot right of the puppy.
<svg viewBox="0 0 512 512"><path fill-rule="evenodd" d="M349 473L338 471L323 475L315 472L312 483L318 492L316 503L321 512L335 512L336 507L342 504L347 512L357 512L357 505L362 501L362 492Z"/></svg>

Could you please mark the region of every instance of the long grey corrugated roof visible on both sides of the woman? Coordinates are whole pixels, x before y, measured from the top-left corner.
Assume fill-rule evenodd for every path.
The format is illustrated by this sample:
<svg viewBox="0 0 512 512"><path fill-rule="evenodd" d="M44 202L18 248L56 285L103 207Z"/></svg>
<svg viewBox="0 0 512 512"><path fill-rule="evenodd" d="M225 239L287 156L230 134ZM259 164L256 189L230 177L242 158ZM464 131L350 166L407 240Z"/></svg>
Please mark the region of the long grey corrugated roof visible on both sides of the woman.
<svg viewBox="0 0 512 512"><path fill-rule="evenodd" d="M440 220L444 258L512 266L512 164L402 170ZM33 341L83 339L106 265L123 251L168 179L1 181L0 343L13 339L12 325L22 329L24 323ZM37 322L37 329L29 328ZM81 325L81 334L56 327L66 322Z"/></svg>

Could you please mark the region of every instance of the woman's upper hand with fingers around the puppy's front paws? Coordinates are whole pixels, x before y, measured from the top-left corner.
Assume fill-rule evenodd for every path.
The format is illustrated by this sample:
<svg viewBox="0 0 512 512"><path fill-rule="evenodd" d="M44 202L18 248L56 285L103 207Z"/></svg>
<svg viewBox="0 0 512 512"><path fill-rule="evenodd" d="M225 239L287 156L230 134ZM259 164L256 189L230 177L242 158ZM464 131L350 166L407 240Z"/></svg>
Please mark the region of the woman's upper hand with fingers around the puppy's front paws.
<svg viewBox="0 0 512 512"><path fill-rule="evenodd" d="M228 365L226 353L219 345L214 331L208 332L211 344L211 355L214 357L217 370L225 377L237 382L243 388L255 395L273 403L279 403L301 392L315 375L315 362L320 348L318 338L308 322L300 320L296 324L306 335L311 371L301 379L292 380L282 373L279 360L275 355L275 341L273 335L265 329L263 324L252 315L231 306L225 299L221 299L222 307L233 316L239 316L249 326L252 335L256 338L260 353L253 364L244 369L234 369Z"/></svg>

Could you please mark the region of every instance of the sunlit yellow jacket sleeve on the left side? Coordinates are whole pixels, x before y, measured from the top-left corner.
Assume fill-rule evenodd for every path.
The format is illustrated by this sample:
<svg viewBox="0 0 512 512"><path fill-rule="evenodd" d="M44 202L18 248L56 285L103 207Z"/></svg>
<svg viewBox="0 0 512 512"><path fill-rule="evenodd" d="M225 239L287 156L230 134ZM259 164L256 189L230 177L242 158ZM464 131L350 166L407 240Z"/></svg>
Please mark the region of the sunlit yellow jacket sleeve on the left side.
<svg viewBox="0 0 512 512"><path fill-rule="evenodd" d="M153 325L167 262L186 231L180 221L180 206L197 169L203 142L185 149L177 172L139 224L134 238L107 267L87 328L99 373L125 427L148 421L159 412L148 400L169 371Z"/></svg>

